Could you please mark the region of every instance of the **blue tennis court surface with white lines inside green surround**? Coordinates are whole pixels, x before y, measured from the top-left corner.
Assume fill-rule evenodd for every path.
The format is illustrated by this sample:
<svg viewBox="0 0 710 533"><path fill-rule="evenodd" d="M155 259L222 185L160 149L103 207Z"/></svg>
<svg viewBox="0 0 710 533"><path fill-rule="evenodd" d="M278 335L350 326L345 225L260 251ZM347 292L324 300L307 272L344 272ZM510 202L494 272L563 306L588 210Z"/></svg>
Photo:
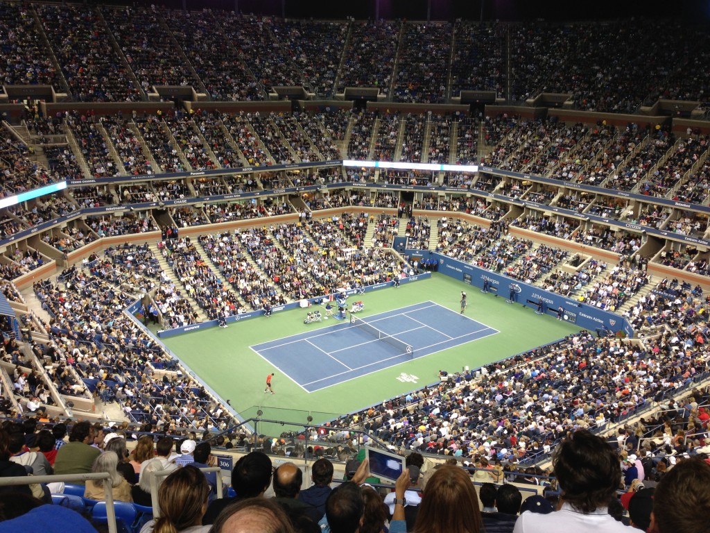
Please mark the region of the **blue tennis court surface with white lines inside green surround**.
<svg viewBox="0 0 710 533"><path fill-rule="evenodd" d="M251 349L302 389L315 392L499 333L432 301L362 320L395 340L379 340L368 328L345 322L261 343ZM398 347L398 343L402 344ZM406 345L411 346L413 353L406 353Z"/></svg>

